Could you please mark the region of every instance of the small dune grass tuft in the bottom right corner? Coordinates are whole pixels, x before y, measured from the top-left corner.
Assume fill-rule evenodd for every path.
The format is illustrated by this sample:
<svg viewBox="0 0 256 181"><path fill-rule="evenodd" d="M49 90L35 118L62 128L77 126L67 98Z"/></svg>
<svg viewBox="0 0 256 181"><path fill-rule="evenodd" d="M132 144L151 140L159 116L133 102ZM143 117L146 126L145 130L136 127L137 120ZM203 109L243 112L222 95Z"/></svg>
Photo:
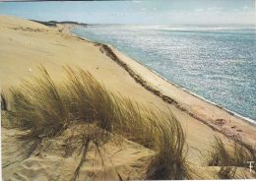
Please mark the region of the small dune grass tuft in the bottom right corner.
<svg viewBox="0 0 256 181"><path fill-rule="evenodd" d="M237 167L248 168L247 161L256 161L253 150L246 149L235 142L232 146L224 145L218 137L215 138L213 150L208 155L209 166L221 166L218 173L221 179L235 178Z"/></svg>

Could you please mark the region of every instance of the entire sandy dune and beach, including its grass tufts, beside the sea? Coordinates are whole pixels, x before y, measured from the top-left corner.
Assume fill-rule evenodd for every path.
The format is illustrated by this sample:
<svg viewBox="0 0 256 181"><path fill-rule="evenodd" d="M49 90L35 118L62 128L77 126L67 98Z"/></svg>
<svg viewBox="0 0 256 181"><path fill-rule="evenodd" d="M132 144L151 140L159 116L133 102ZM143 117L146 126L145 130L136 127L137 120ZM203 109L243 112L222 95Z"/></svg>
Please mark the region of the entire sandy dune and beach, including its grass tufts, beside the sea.
<svg viewBox="0 0 256 181"><path fill-rule="evenodd" d="M256 177L254 126L65 22L43 24L0 17L5 180Z"/></svg>

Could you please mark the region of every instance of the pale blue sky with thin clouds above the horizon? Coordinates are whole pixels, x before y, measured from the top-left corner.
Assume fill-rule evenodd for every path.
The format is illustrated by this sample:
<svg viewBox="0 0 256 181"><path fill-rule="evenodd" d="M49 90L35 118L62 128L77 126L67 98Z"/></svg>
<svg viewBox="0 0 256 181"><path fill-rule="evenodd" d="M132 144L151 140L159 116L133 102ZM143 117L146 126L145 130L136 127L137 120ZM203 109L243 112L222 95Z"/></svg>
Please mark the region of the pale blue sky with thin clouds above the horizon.
<svg viewBox="0 0 256 181"><path fill-rule="evenodd" d="M254 24L255 0L0 2L0 15L88 24Z"/></svg>

